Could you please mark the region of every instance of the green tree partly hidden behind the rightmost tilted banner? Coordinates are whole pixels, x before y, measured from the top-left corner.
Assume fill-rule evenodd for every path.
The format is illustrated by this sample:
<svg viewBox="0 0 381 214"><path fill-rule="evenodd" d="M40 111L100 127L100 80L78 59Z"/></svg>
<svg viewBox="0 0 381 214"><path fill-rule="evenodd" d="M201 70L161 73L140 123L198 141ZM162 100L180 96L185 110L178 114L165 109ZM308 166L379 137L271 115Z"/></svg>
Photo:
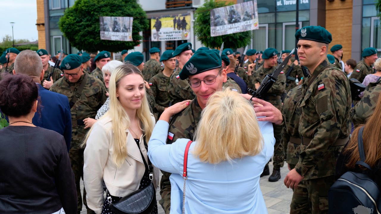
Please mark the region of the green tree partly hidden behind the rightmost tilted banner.
<svg viewBox="0 0 381 214"><path fill-rule="evenodd" d="M194 31L197 38L204 46L215 48L221 46L224 42L224 46L227 48L241 48L250 43L251 31L227 34L218 37L210 36L210 10L232 4L232 2L226 3L207 0L202 7L197 8L195 11Z"/></svg>

